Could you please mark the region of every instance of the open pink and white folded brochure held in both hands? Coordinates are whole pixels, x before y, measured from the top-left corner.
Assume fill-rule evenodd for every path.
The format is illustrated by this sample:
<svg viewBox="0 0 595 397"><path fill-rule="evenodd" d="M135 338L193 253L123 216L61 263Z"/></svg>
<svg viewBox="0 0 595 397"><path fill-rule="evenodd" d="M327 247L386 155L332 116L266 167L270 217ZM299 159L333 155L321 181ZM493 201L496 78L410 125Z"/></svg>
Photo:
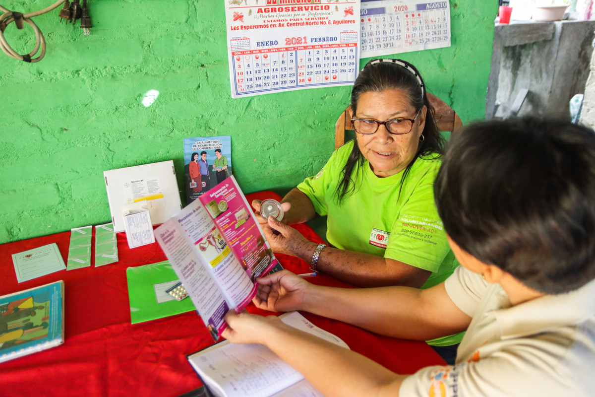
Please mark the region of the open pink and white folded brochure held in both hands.
<svg viewBox="0 0 595 397"><path fill-rule="evenodd" d="M233 176L165 221L155 238L215 340L227 312L256 295L256 277L278 265Z"/></svg>

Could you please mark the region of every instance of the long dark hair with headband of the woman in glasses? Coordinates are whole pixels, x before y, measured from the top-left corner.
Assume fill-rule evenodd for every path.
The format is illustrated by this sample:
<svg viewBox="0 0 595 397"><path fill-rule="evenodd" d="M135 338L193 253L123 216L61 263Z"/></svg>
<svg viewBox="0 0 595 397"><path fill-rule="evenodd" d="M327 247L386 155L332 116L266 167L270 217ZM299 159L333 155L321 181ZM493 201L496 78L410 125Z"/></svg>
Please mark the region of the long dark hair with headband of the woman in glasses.
<svg viewBox="0 0 595 397"><path fill-rule="evenodd" d="M425 93L425 85L421 79L421 75L409 62L402 60L371 60L359 73L355 80L353 89L351 90L351 109L355 115L358 108L359 97L365 92L381 93L387 89L402 90L408 96L409 102L415 107L415 111L419 111L424 105L427 107L425 116L425 126L422 134L424 140L419 142L415 157L405 170L401 178L400 187L402 189L403 183L409 174L409 170L413 166L415 160L422 155L436 154L439 157L444 152L444 138L438 131L436 120L434 120L434 109L430 106L428 96ZM365 158L359 150L357 142L353 142L353 149L347 158L347 162L343 166L342 178L337 185L337 201L340 203L347 196L351 195L356 190L354 182L355 177L352 176L353 168L359 163L364 165ZM357 172L357 171L356 171ZM400 194L400 190L399 190Z"/></svg>

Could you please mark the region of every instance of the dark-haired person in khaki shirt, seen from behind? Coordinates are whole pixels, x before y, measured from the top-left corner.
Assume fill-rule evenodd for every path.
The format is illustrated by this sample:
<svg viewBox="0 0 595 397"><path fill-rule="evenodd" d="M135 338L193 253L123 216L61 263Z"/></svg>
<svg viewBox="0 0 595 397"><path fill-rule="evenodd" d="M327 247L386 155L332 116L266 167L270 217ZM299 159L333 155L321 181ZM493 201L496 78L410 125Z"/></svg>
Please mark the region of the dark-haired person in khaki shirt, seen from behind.
<svg viewBox="0 0 595 397"><path fill-rule="evenodd" d="M284 270L257 279L254 302L404 339L467 329L455 366L395 374L247 312L228 312L223 336L267 345L325 396L592 395L595 132L532 118L464 127L451 137L434 191L461 262L446 282L341 289ZM272 217L268 224L270 240L296 237Z"/></svg>

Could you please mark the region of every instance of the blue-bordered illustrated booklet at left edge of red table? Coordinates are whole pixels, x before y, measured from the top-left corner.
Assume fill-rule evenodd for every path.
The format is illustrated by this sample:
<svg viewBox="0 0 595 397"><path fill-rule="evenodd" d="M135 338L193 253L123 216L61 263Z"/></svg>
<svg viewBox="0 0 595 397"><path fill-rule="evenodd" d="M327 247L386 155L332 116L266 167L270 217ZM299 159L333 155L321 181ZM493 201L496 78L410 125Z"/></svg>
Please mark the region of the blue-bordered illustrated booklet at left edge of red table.
<svg viewBox="0 0 595 397"><path fill-rule="evenodd" d="M64 282L0 296L0 362L64 342Z"/></svg>

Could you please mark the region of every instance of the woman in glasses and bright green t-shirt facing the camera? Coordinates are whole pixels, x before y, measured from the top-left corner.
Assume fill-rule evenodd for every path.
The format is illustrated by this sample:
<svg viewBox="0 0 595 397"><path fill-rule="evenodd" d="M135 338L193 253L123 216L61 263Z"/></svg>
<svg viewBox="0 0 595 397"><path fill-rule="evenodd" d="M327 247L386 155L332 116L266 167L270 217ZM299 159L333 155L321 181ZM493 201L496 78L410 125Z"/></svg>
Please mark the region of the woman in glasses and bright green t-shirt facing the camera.
<svg viewBox="0 0 595 397"><path fill-rule="evenodd" d="M353 85L351 117L355 141L281 204L285 224L327 215L330 246L296 238L271 248L355 286L439 284L458 263L434 205L444 139L417 69L402 60L369 61ZM260 201L252 205L260 210ZM461 339L428 343L453 362Z"/></svg>

